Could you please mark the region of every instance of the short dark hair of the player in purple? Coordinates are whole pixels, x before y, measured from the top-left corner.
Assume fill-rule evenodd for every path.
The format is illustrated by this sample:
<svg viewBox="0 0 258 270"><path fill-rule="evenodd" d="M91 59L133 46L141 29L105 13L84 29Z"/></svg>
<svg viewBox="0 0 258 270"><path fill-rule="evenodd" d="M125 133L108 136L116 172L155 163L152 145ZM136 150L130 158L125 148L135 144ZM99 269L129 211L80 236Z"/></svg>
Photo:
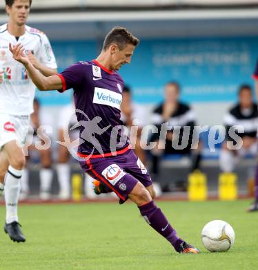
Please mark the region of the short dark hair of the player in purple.
<svg viewBox="0 0 258 270"><path fill-rule="evenodd" d="M103 51L106 51L111 44L117 44L121 51L127 44L137 46L139 42L139 39L132 35L126 28L116 26L106 35L103 43Z"/></svg>

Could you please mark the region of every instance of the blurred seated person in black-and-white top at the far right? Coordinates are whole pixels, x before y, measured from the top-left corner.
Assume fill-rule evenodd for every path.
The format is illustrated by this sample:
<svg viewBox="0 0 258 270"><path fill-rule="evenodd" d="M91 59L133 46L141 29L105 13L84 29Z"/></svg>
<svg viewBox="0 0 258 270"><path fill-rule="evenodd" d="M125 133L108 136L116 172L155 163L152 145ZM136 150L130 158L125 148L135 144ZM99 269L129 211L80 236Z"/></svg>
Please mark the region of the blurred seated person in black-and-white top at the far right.
<svg viewBox="0 0 258 270"><path fill-rule="evenodd" d="M226 126L226 141L222 145L221 154L219 156L219 164L222 172L232 172L239 161L239 157L251 154L257 154L257 124L258 111L252 97L252 89L249 85L244 84L239 88L239 101L232 107L224 118ZM239 150L228 148L228 142L232 142L229 136L229 129L234 125L240 125L244 128L244 133L235 132L239 139L243 141L243 145ZM233 141L234 142L234 141ZM237 143L235 141L235 143Z"/></svg>

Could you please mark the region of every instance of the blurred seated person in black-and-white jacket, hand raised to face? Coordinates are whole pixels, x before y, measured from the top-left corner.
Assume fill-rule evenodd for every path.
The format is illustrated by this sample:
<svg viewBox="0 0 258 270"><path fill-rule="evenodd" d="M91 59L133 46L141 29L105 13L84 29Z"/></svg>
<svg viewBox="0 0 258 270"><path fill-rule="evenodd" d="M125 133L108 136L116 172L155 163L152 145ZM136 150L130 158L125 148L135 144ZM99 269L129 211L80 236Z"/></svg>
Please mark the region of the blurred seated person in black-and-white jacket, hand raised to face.
<svg viewBox="0 0 258 270"><path fill-rule="evenodd" d="M192 160L191 172L199 168L199 144L196 147L192 142L195 126L195 112L183 102L179 102L180 87L177 82L168 82L165 85L165 100L153 111L152 123L159 132L152 134L151 142L156 142L150 150L152 156L152 173L159 174L159 160L163 154L183 154ZM170 129L161 134L161 125L168 123ZM188 126L187 128L184 128ZM160 147L163 145L164 147ZM177 147L181 145L182 147ZM163 149L161 149L163 148ZM197 148L192 150L192 148Z"/></svg>

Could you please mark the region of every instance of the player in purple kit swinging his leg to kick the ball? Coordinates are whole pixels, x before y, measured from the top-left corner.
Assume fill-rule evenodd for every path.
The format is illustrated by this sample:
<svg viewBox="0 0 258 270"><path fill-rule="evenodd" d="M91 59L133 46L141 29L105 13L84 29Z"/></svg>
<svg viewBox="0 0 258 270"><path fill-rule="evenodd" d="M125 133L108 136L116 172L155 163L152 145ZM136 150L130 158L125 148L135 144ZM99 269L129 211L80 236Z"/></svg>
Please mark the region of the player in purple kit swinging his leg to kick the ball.
<svg viewBox="0 0 258 270"><path fill-rule="evenodd" d="M146 222L177 252L199 253L177 236L161 209L155 205L150 176L121 132L123 80L117 70L123 64L130 64L137 44L139 39L126 28L115 27L106 35L96 60L73 64L62 73L49 77L33 67L21 45L10 45L10 51L14 59L26 67L41 91L74 89L77 118L81 123L78 154L83 171L113 190L121 202L131 199L137 204Z"/></svg>

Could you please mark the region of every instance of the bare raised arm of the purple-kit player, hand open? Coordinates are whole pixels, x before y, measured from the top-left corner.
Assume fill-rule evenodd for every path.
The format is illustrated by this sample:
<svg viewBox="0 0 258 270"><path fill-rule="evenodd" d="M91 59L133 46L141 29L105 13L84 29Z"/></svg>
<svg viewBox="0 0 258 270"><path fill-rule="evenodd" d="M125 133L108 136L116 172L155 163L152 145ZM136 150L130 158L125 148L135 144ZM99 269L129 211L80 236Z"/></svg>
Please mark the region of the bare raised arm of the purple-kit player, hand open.
<svg viewBox="0 0 258 270"><path fill-rule="evenodd" d="M26 55L23 53L24 48L21 44L14 46L9 44L9 49L14 60L17 60L26 67L28 75L39 90L48 91L62 89L62 82L58 75L46 77L34 68L33 64L28 60L28 57L26 57Z"/></svg>

